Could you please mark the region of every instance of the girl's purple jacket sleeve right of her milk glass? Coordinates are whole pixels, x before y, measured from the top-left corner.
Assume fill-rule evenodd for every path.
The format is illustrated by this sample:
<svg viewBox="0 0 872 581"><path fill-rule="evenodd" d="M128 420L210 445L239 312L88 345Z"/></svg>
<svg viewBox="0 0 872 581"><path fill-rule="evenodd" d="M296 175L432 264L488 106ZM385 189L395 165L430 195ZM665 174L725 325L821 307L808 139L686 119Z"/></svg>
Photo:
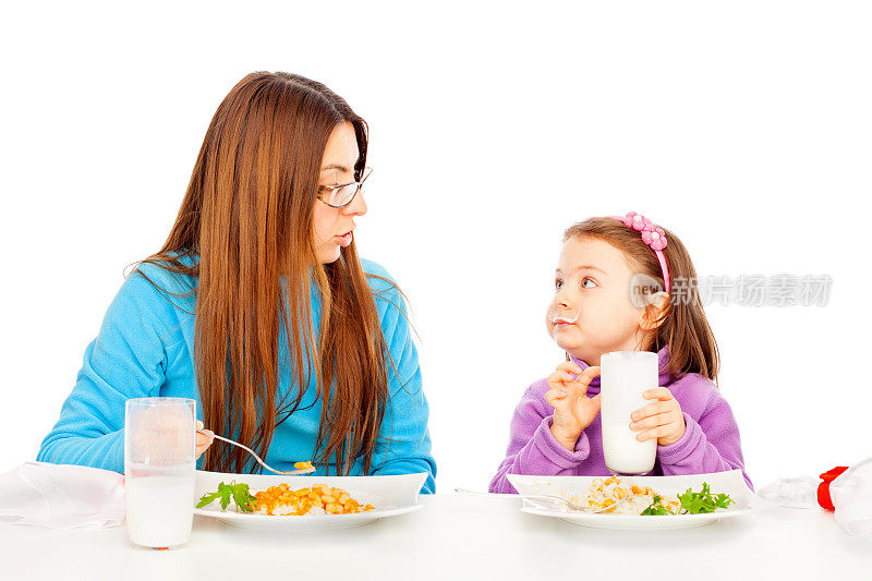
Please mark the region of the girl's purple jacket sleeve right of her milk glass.
<svg viewBox="0 0 872 581"><path fill-rule="evenodd" d="M739 426L727 400L712 391L698 420L687 412L683 415L686 428L681 439L657 448L663 474L703 474L738 469L753 491L751 479L744 472Z"/></svg>

